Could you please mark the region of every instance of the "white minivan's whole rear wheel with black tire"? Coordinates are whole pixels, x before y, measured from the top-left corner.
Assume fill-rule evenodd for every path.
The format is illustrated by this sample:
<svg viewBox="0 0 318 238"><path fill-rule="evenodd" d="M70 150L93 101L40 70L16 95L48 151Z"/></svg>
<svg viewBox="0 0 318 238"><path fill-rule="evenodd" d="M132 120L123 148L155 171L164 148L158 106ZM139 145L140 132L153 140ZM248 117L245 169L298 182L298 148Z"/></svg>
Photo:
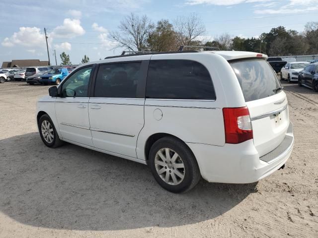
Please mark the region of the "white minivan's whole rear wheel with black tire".
<svg viewBox="0 0 318 238"><path fill-rule="evenodd" d="M166 152L169 154L168 158ZM175 163L171 161L173 158ZM192 151L184 142L170 136L163 137L153 144L149 153L149 166L159 185L174 193L190 190L201 178Z"/></svg>

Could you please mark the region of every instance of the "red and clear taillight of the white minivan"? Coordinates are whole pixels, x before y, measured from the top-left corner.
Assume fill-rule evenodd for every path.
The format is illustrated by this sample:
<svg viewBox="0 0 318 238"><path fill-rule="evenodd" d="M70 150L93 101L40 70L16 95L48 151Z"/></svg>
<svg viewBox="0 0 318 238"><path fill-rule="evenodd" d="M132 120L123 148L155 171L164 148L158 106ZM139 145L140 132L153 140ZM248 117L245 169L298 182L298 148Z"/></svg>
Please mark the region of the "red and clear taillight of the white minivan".
<svg viewBox="0 0 318 238"><path fill-rule="evenodd" d="M253 139L247 107L223 109L225 143L238 144Z"/></svg>

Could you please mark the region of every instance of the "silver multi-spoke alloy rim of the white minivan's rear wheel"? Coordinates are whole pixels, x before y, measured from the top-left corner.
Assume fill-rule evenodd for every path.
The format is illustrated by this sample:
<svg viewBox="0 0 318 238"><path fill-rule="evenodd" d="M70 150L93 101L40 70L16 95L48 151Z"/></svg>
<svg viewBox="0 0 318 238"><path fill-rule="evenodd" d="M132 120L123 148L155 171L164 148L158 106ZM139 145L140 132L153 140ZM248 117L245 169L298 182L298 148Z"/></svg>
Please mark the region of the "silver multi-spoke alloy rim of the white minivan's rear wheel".
<svg viewBox="0 0 318 238"><path fill-rule="evenodd" d="M183 161L174 150L160 149L155 157L155 167L159 177L170 185L180 184L184 179Z"/></svg>

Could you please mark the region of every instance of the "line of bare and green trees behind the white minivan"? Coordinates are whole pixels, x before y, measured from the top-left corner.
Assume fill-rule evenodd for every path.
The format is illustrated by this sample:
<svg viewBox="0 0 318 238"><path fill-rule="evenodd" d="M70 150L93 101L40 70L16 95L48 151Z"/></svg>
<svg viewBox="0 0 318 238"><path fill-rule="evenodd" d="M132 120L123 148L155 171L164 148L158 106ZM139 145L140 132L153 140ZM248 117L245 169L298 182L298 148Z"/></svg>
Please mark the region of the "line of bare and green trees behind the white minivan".
<svg viewBox="0 0 318 238"><path fill-rule="evenodd" d="M251 51L269 56L318 54L318 22L308 22L304 32L272 28L258 37L242 38L224 33L207 41L206 28L195 13L172 22L162 19L153 23L147 16L131 13L109 34L119 48L129 51L176 51L183 46L217 47L220 50Z"/></svg>

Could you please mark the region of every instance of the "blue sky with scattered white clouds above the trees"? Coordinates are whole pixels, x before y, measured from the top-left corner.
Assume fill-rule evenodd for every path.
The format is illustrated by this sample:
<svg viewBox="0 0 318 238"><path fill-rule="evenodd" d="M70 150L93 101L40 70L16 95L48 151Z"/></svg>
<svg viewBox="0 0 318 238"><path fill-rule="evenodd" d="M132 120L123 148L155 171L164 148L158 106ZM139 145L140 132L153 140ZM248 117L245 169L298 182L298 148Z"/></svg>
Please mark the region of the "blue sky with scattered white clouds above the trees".
<svg viewBox="0 0 318 238"><path fill-rule="evenodd" d="M124 49L108 35L118 30L130 12L153 22L197 13L206 27L206 40L222 33L257 37L283 25L299 32L317 21L318 0L1 0L0 65L2 61L48 60L60 64L66 52L74 64L87 55L90 61L119 55Z"/></svg>

